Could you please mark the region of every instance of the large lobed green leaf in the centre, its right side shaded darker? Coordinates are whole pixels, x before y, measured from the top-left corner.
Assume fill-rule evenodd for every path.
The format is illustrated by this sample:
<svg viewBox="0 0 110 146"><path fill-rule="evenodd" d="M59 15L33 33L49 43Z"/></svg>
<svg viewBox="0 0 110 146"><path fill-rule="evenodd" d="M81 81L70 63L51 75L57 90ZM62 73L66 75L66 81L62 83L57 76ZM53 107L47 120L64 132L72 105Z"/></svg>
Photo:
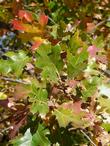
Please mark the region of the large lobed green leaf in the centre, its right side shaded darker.
<svg viewBox="0 0 110 146"><path fill-rule="evenodd" d="M41 77L43 80L58 82L58 70L63 67L60 51L60 46L43 45L36 52L35 65L37 68L42 69Z"/></svg>

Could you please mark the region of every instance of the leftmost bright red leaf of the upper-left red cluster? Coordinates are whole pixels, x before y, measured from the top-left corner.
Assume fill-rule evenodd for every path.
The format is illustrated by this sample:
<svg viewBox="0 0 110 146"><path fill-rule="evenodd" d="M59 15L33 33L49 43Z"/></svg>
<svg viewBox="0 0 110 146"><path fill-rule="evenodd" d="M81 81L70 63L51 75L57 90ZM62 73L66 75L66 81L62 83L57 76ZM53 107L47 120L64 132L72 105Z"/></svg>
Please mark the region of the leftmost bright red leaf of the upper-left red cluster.
<svg viewBox="0 0 110 146"><path fill-rule="evenodd" d="M22 22L19 20L12 21L13 28L16 30L25 31L25 27L23 26Z"/></svg>

